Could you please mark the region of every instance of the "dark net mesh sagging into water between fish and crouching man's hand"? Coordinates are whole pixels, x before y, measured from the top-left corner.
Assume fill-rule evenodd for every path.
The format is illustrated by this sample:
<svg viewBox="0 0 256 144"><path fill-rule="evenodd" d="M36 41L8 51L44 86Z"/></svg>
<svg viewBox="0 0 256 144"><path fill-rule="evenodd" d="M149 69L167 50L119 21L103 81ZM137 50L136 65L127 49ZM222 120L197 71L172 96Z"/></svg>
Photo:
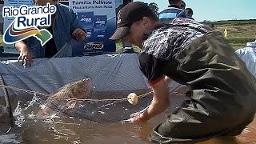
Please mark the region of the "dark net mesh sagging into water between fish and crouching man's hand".
<svg viewBox="0 0 256 144"><path fill-rule="evenodd" d="M145 94L147 90L136 90L137 94ZM111 95L110 95L111 94ZM130 91L108 91L94 93L94 98L126 98ZM47 102L51 110L58 110L66 115L85 118L94 122L117 122L130 118L130 114L144 109L150 104L150 94L139 99L138 105L131 105L127 101L100 101L100 102L74 102L67 99L58 99ZM70 107L71 106L71 107Z"/></svg>

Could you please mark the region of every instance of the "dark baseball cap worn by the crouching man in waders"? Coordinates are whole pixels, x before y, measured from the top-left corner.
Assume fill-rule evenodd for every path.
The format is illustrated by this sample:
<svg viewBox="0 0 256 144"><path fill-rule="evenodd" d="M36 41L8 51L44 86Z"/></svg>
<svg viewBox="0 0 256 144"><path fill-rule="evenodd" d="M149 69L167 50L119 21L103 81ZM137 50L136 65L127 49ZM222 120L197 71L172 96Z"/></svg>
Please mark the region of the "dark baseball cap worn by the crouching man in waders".
<svg viewBox="0 0 256 144"><path fill-rule="evenodd" d="M143 17L156 17L156 15L144 2L130 2L119 10L117 17L118 27L111 36L111 40L124 38L129 32L130 26Z"/></svg>

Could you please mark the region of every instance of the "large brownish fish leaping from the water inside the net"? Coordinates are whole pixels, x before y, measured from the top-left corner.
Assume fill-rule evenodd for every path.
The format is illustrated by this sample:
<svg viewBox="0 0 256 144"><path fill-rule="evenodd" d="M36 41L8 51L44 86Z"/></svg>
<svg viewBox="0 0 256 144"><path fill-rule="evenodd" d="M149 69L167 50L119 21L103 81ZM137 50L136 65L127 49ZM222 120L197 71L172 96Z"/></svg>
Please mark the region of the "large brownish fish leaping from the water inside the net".
<svg viewBox="0 0 256 144"><path fill-rule="evenodd" d="M65 112L67 109L72 109L76 105L76 101L67 101L62 98L89 98L91 88L91 79L84 78L78 82L72 82L62 86L57 93L53 94L40 106L38 110L38 116L50 114L52 110L60 110Z"/></svg>

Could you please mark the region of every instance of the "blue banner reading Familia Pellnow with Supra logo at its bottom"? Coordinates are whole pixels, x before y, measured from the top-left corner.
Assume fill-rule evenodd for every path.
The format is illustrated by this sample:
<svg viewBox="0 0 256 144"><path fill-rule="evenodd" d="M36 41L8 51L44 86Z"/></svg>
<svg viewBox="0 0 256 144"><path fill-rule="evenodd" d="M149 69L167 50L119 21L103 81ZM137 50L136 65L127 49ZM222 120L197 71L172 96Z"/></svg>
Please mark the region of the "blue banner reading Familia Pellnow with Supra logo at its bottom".
<svg viewBox="0 0 256 144"><path fill-rule="evenodd" d="M70 0L69 6L87 31L86 42L74 42L73 55L114 52L109 40L116 29L116 0ZM81 48L82 47L82 48Z"/></svg>

